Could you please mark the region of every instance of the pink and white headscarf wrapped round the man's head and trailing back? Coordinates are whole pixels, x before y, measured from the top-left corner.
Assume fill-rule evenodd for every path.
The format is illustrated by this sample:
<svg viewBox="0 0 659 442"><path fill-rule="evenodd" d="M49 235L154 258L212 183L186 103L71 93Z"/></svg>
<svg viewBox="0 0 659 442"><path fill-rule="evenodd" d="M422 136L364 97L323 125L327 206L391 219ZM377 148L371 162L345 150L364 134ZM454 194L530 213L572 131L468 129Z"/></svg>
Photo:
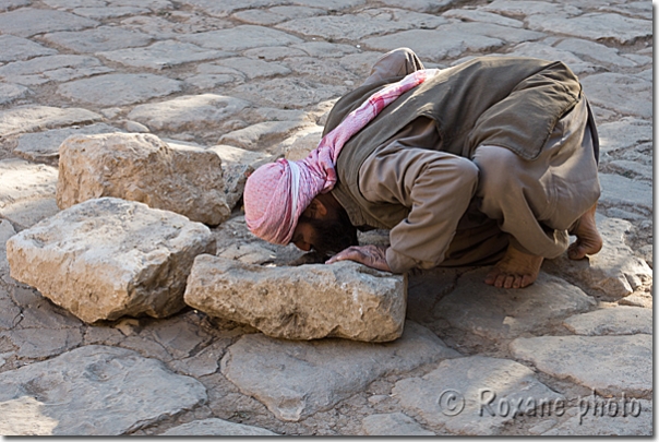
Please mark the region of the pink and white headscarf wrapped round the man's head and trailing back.
<svg viewBox="0 0 659 442"><path fill-rule="evenodd" d="M355 109L302 160L277 159L256 169L244 186L244 219L257 237L287 244L302 212L319 193L336 184L335 164L350 138L367 126L390 103L406 91L436 74L436 69L410 73L374 93Z"/></svg>

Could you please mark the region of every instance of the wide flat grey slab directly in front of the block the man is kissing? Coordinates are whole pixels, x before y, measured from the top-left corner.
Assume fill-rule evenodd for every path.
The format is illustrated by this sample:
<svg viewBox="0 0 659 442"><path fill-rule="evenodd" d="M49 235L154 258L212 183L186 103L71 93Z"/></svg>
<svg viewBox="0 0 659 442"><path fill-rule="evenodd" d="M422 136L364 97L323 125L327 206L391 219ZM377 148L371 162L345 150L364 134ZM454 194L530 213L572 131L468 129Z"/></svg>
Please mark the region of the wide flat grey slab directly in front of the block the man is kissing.
<svg viewBox="0 0 659 442"><path fill-rule="evenodd" d="M278 419L298 421L383 375L457 356L428 328L408 321L403 337L388 344L248 334L228 348L220 367L243 394L264 403Z"/></svg>

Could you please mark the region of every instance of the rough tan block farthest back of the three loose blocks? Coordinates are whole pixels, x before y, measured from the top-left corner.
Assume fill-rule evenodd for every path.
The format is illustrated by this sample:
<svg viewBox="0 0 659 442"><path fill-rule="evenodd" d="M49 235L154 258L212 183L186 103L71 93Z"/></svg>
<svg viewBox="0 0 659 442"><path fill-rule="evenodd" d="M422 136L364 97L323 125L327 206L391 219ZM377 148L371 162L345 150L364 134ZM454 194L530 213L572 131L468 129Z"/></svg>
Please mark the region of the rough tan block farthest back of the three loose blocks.
<svg viewBox="0 0 659 442"><path fill-rule="evenodd" d="M181 144L171 147L152 134L73 135L60 146L59 167L60 208L115 196L212 226L231 212L219 156Z"/></svg>

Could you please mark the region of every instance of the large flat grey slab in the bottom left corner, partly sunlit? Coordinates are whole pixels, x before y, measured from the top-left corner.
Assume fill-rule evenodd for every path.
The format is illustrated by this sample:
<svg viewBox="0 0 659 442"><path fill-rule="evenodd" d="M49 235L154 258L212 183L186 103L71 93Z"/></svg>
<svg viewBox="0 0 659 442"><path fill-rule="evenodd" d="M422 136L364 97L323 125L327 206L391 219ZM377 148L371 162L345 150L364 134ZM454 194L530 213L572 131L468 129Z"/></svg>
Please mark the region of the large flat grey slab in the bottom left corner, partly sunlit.
<svg viewBox="0 0 659 442"><path fill-rule="evenodd" d="M5 435L120 435L207 398L158 360L97 345L0 373L0 385Z"/></svg>

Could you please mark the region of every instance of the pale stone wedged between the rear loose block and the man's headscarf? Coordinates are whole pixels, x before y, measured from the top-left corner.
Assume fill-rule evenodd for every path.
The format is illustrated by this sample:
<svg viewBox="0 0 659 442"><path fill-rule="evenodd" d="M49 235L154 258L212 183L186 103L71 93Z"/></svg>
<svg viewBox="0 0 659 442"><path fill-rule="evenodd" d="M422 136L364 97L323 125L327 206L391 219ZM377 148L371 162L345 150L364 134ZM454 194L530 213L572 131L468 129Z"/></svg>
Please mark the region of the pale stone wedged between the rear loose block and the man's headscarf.
<svg viewBox="0 0 659 442"><path fill-rule="evenodd" d="M221 158L225 199L227 205L233 208L242 198L248 176L260 165L266 163L269 159L269 155L225 144L208 147L208 151L215 152Z"/></svg>

